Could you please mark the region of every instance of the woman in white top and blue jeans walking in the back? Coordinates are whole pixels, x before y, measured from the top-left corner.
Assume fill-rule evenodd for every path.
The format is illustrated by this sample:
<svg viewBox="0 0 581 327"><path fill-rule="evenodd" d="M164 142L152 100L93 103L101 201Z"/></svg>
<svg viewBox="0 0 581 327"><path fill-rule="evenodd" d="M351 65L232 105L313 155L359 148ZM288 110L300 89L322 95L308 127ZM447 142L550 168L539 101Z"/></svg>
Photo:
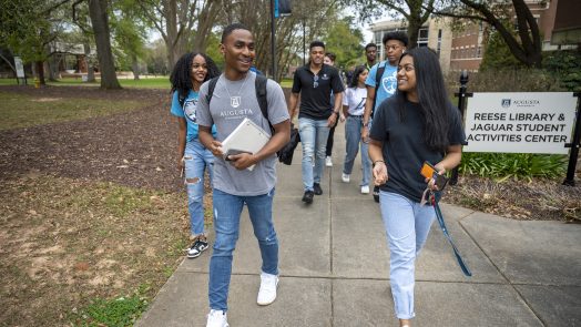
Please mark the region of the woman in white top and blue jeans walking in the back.
<svg viewBox="0 0 581 327"><path fill-rule="evenodd" d="M353 79L343 96L343 114L347 117L345 123L345 163L343 164L342 180L344 183L350 182L353 164L359 147L361 149L363 178L361 194L369 194L369 180L371 180L371 162L368 154L368 140L361 140L363 116L365 111L365 100L367 99L367 88L365 80L369 71L365 65L355 68Z"/></svg>

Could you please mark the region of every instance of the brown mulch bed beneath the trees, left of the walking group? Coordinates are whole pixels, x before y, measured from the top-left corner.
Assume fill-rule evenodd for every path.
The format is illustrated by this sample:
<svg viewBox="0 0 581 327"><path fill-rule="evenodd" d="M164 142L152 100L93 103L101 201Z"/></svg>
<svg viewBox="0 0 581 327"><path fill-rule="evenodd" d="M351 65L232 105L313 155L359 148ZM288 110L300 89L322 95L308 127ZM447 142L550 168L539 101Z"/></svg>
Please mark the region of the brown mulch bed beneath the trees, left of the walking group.
<svg viewBox="0 0 581 327"><path fill-rule="evenodd" d="M183 190L176 174L177 129L169 111L169 91L86 86L0 86L0 91L143 102L133 112L0 131L0 181L40 171L133 187Z"/></svg>

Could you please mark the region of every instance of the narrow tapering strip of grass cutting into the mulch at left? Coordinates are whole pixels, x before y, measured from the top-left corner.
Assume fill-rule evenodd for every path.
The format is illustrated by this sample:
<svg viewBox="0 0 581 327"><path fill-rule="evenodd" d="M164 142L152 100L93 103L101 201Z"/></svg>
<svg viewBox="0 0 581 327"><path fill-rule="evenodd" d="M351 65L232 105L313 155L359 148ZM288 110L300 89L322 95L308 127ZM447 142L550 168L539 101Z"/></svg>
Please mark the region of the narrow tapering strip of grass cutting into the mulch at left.
<svg viewBox="0 0 581 327"><path fill-rule="evenodd" d="M40 98L0 92L0 130L84 120L143 106L139 101Z"/></svg>

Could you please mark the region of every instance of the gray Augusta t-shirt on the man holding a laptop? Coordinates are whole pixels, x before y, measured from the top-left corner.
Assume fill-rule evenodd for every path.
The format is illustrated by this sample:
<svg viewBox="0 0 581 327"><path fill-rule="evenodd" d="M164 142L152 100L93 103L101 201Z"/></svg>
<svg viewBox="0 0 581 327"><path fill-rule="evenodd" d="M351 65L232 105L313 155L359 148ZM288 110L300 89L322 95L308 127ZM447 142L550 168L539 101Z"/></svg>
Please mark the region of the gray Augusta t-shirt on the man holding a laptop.
<svg viewBox="0 0 581 327"><path fill-rule="evenodd" d="M206 100L207 85L200 89L197 123L202 126L216 125L216 140L223 142L245 119L249 119L268 134L271 127L264 117L256 99L256 74L248 72L239 81L226 80L222 74L210 101ZM227 89L226 89L227 88ZM283 89L273 80L266 83L268 120L273 125L289 119ZM255 196L268 193L276 184L276 155L258 162L254 170L236 170L223 159L214 161L213 187L238 196Z"/></svg>

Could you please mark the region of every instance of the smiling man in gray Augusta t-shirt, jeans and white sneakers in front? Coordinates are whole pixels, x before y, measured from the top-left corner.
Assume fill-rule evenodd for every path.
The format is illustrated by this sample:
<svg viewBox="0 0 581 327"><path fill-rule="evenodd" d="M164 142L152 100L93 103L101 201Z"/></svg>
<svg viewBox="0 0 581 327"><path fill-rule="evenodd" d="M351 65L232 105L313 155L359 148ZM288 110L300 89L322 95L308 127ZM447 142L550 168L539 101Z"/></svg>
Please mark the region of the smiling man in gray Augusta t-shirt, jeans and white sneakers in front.
<svg viewBox="0 0 581 327"><path fill-rule="evenodd" d="M233 252L238 238L241 212L246 204L258 239L263 259L257 304L269 305L276 298L278 284L278 239L273 225L272 207L276 183L276 151L290 136L290 116L281 86L272 80L266 83L268 120L264 117L256 99L256 74L249 72L255 57L254 37L239 24L231 24L222 33L220 50L224 55L224 73L217 80L210 103L208 83L200 89L197 123L200 140L216 156L214 161L213 201L216 239L210 260L210 314L207 326L227 326L226 310L232 274ZM271 140L257 153L230 155L225 161L222 141L238 124L249 119L267 133L268 121L274 127ZM216 139L211 126L216 125ZM255 165L249 171L247 167Z"/></svg>

